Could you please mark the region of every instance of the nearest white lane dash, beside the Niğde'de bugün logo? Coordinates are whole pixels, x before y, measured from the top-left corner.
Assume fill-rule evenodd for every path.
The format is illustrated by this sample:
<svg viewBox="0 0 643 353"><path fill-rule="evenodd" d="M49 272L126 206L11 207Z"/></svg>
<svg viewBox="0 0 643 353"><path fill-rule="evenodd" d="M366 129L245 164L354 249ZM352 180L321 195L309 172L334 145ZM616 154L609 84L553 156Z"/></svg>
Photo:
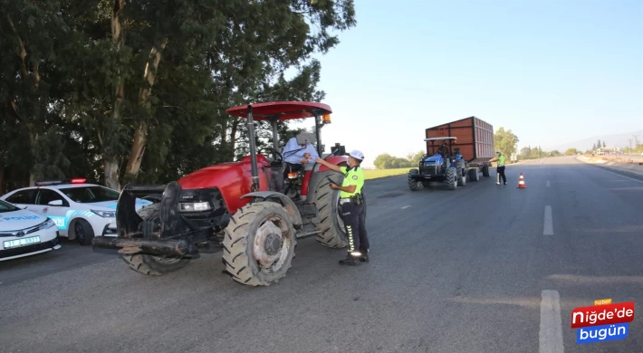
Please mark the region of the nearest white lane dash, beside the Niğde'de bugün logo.
<svg viewBox="0 0 643 353"><path fill-rule="evenodd" d="M542 291L540 353L563 353L561 296L558 291Z"/></svg>

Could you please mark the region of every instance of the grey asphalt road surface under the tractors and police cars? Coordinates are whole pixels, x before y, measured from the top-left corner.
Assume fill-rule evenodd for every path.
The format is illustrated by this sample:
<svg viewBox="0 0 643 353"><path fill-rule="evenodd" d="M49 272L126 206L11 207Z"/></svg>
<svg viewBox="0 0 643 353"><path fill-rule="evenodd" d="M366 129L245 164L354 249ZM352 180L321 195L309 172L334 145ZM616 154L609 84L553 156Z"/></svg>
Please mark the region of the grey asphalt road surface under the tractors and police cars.
<svg viewBox="0 0 643 353"><path fill-rule="evenodd" d="M343 250L306 239L267 288L230 280L220 253L153 278L71 242L0 262L2 350L641 352L638 317L627 339L578 345L570 316L643 303L643 180L540 163L507 167L507 186L369 181L371 262L341 267Z"/></svg>

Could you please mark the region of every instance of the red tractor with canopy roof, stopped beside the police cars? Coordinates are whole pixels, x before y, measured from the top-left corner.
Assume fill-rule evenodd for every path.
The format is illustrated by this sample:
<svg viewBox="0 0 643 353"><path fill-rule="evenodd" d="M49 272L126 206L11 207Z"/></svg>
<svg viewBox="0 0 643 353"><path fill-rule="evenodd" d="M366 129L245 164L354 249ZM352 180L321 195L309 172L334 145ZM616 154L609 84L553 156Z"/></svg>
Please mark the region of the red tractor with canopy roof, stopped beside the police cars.
<svg viewBox="0 0 643 353"><path fill-rule="evenodd" d="M133 270L160 275L177 271L199 253L223 252L226 271L247 285L270 285L291 267L298 238L316 236L322 245L348 245L338 213L340 193L329 177L343 176L318 163L305 165L284 180L277 121L315 119L316 149L325 160L347 165L345 148L335 144L323 156L320 130L331 122L331 107L322 103L283 101L231 108L247 118L250 156L231 163L199 169L165 186L127 185L116 209L117 237L95 237L95 247L120 249ZM257 152L254 120L270 121L274 148ZM286 196L284 183L296 186ZM154 204L136 211L143 197Z"/></svg>

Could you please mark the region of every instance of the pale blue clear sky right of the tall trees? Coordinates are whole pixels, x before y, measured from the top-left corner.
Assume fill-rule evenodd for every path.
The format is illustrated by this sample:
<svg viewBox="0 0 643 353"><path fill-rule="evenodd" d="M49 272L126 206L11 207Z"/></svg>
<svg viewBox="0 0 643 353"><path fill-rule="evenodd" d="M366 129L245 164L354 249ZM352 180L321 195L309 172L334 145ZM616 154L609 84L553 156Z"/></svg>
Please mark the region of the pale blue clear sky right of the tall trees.
<svg viewBox="0 0 643 353"><path fill-rule="evenodd" d="M326 150L424 148L475 116L525 146L643 129L643 0L355 0L325 55ZM309 126L307 121L297 126Z"/></svg>

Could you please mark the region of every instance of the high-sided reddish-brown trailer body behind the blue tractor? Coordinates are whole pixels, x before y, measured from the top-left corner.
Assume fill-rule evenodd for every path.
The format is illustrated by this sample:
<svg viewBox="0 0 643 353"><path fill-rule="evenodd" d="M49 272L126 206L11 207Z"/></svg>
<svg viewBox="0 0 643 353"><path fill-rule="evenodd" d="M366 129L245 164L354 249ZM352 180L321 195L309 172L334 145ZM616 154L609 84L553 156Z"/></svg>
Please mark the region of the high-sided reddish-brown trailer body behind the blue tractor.
<svg viewBox="0 0 643 353"><path fill-rule="evenodd" d="M469 117L447 122L426 131L427 138L456 138L452 146L471 167L483 165L494 157L494 127L482 119ZM440 141L427 141L427 155L438 152Z"/></svg>

